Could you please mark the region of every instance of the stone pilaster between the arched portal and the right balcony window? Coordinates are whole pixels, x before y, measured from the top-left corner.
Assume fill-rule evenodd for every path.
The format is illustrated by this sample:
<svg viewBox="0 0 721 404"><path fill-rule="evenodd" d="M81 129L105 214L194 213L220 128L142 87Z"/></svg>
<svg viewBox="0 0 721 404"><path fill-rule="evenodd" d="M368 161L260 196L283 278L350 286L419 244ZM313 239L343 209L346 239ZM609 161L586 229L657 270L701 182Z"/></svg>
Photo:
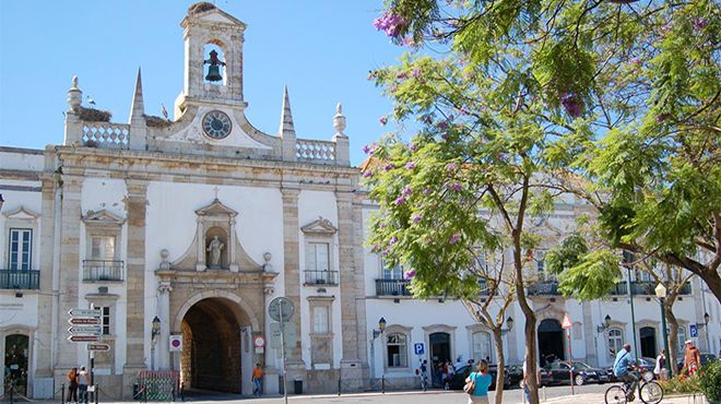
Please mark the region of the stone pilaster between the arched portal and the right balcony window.
<svg viewBox="0 0 721 404"><path fill-rule="evenodd" d="M295 306L293 320L286 326L294 326L295 335L297 335L295 346L289 346L287 349L286 363L300 367L303 365L303 358L300 356L300 245L298 239L298 194L300 191L293 188L283 188L281 192L283 194L283 276L285 297L293 301Z"/></svg>

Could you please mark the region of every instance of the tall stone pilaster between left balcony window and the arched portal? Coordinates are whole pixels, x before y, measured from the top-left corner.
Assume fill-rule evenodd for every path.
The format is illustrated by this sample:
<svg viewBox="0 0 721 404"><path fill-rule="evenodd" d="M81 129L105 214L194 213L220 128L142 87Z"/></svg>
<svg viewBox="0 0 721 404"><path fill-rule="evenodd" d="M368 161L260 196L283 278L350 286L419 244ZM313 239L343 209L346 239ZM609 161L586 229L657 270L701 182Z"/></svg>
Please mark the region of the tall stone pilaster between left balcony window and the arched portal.
<svg viewBox="0 0 721 404"><path fill-rule="evenodd" d="M127 179L128 266L126 270L126 365L122 369L122 397L132 397L132 383L145 366L145 210L147 181Z"/></svg>

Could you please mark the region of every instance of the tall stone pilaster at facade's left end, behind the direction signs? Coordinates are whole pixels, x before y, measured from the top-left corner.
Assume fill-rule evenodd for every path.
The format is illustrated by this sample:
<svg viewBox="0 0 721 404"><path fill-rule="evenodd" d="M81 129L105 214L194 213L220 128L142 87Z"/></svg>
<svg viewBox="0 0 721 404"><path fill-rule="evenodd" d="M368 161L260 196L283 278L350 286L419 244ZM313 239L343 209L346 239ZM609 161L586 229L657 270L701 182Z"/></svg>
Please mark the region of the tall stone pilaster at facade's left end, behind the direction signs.
<svg viewBox="0 0 721 404"><path fill-rule="evenodd" d="M62 202L60 227L60 307L58 308L58 365L55 367L56 384L64 381L64 373L78 366L79 344L69 342L68 310L78 307L80 274L80 215L83 187L82 169L66 167L62 175ZM39 320L39 319L38 319Z"/></svg>

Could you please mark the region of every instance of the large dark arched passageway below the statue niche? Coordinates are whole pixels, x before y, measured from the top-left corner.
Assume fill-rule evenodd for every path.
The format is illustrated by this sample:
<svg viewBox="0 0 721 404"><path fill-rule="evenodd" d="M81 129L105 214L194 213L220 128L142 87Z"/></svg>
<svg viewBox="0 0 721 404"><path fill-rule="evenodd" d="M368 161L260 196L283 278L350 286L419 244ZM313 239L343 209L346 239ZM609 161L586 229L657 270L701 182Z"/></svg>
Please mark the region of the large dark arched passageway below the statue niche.
<svg viewBox="0 0 721 404"><path fill-rule="evenodd" d="M252 352L241 326L247 314L233 300L204 298L192 305L181 323L180 372L185 389L243 393L250 379Z"/></svg>

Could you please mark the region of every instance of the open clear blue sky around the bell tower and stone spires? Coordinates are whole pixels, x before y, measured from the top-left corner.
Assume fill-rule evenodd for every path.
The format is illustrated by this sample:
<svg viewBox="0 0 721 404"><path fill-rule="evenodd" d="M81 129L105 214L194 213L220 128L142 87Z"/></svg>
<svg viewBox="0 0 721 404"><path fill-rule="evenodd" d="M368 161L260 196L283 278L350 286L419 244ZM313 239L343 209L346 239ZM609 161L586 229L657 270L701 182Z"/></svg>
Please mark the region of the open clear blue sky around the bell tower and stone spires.
<svg viewBox="0 0 721 404"><path fill-rule="evenodd" d="M173 112L182 88L182 28L190 0L0 0L0 146L61 144L71 78L97 108L126 122L138 67L145 114ZM287 84L298 138L330 140L335 105L343 104L352 164L386 129L390 102L366 80L393 64L403 49L371 22L373 1L216 0L248 24L244 44L245 98L250 122L277 132Z"/></svg>

